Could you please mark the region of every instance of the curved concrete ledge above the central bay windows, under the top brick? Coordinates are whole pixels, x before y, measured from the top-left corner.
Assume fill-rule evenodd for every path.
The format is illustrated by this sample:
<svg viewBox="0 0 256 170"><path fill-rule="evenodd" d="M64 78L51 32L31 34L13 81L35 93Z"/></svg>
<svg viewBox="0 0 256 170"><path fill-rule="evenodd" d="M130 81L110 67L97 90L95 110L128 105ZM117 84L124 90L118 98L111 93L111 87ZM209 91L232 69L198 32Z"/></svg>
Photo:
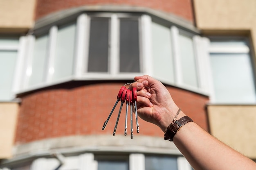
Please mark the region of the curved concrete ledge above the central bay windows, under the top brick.
<svg viewBox="0 0 256 170"><path fill-rule="evenodd" d="M130 12L130 13L146 13L153 17L157 17L162 20L173 23L180 28L193 33L200 33L200 31L193 25L193 23L183 19L182 17L165 13L162 11L153 10L146 7L132 7L132 6L118 6L118 5L95 5L95 6L82 6L71 9L58 11L56 13L49 14L36 21L34 30L42 27L49 27L55 24L55 22L63 22L63 20L74 20L78 15L85 12Z"/></svg>

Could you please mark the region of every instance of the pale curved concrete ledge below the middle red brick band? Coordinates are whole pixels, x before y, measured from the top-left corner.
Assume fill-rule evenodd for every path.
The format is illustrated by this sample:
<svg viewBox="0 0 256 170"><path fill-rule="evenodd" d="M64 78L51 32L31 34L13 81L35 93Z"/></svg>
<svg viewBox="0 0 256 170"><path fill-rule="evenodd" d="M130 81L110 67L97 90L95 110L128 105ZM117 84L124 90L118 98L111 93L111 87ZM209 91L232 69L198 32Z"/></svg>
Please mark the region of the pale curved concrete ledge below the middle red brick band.
<svg viewBox="0 0 256 170"><path fill-rule="evenodd" d="M3 160L2 165L33 160L38 157L50 157L53 153L79 155L81 153L157 153L181 155L173 142L162 137L123 135L67 136L44 139L27 144L16 145L13 158Z"/></svg>

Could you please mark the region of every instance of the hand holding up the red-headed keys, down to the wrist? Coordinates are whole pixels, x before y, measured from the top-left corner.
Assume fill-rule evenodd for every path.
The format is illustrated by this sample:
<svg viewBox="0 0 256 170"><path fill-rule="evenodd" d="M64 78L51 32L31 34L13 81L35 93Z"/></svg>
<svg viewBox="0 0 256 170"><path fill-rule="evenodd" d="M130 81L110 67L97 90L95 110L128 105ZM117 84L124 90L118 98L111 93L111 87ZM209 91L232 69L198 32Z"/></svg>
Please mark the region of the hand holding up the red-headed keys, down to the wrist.
<svg viewBox="0 0 256 170"><path fill-rule="evenodd" d="M137 113L140 118L159 126L162 131L173 121L179 107L166 87L156 79L144 75L136 76L131 87L137 88ZM181 111L179 117L185 114ZM179 118L178 117L178 118Z"/></svg>

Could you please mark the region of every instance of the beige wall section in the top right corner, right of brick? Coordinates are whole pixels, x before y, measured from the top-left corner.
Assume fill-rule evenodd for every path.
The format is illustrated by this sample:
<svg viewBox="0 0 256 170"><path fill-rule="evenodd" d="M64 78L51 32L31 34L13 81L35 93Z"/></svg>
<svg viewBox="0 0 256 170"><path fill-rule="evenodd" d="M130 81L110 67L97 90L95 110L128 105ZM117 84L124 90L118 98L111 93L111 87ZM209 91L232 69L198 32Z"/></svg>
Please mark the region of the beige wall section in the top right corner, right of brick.
<svg viewBox="0 0 256 170"><path fill-rule="evenodd" d="M194 0L194 8L202 31L251 31L256 51L256 0Z"/></svg>

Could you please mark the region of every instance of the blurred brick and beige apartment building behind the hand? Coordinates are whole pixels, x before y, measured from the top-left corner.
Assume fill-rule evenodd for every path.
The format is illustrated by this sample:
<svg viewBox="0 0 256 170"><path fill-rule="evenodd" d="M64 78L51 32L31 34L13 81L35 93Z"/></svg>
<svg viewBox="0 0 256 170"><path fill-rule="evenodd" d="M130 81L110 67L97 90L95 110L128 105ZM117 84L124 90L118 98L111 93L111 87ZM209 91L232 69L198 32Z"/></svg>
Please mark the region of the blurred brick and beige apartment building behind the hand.
<svg viewBox="0 0 256 170"><path fill-rule="evenodd" d="M203 129L256 159L255 6L0 0L0 168L191 170L153 124L139 118L139 133L125 136L125 108L113 136L119 105L102 131L120 87L144 74Z"/></svg>

